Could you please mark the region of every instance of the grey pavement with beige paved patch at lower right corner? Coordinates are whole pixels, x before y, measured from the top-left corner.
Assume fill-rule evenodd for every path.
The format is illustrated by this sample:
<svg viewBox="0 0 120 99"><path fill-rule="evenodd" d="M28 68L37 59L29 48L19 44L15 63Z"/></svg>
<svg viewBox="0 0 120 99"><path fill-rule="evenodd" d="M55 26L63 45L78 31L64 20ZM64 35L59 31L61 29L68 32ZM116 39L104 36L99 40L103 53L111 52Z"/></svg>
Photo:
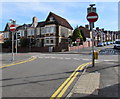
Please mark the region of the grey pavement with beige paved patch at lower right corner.
<svg viewBox="0 0 120 99"><path fill-rule="evenodd" d="M80 76L67 98L119 99L119 62L101 61L89 65Z"/></svg>

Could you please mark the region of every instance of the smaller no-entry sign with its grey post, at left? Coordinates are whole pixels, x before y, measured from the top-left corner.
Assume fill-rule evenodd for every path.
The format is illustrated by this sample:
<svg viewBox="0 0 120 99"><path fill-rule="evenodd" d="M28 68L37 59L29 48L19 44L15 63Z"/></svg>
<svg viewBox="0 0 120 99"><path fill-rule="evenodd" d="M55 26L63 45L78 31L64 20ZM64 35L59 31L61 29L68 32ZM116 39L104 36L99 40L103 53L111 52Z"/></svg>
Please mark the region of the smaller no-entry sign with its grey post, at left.
<svg viewBox="0 0 120 99"><path fill-rule="evenodd" d="M12 20L12 25L10 26L10 31L12 32L12 61L14 61L14 34L15 34L15 21Z"/></svg>

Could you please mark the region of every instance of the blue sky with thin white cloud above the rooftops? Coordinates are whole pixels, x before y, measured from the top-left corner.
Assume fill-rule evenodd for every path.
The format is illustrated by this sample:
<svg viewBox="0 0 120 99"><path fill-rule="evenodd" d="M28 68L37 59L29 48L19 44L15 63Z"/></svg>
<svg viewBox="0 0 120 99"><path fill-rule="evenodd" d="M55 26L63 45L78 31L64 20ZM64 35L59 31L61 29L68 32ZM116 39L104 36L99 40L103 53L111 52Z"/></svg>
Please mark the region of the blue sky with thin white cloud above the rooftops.
<svg viewBox="0 0 120 99"><path fill-rule="evenodd" d="M86 19L87 8L90 4L96 4L98 21L95 28L105 30L118 30L118 2L0 2L2 20L0 31L3 31L9 19L16 20L17 24L30 24L36 16L38 21L45 21L49 12L53 12L65 18L73 28L89 24Z"/></svg>

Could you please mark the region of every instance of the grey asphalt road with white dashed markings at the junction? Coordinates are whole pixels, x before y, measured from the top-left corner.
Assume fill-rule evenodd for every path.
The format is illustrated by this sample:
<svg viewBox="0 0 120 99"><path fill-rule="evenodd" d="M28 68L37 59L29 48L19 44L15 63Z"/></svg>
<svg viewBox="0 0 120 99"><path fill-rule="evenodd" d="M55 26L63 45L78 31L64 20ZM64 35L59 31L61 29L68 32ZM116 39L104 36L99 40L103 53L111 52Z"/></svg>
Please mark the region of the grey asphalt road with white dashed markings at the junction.
<svg viewBox="0 0 120 99"><path fill-rule="evenodd" d="M30 56L35 56L36 59L2 68L3 97L51 97L78 66L91 62L92 59L90 54L67 53L32 53L20 57L27 59ZM118 61L118 56L100 55L99 61ZM70 92L81 73L75 77L62 97Z"/></svg>

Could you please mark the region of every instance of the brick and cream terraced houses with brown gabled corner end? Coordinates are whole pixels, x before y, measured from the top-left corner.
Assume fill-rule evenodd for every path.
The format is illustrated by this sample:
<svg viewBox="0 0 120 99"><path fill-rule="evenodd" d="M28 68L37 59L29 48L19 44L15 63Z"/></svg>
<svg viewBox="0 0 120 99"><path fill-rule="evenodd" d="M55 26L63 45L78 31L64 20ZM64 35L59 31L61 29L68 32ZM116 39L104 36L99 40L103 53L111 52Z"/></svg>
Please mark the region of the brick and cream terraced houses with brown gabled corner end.
<svg viewBox="0 0 120 99"><path fill-rule="evenodd" d="M7 24L4 30L6 39L11 37L9 26L10 24ZM49 47L53 47L55 51L67 50L68 38L72 35L72 30L73 28L66 19L52 12L45 21L38 22L37 17L33 17L31 24L17 25L16 28L16 31L20 32L20 39L29 39L31 51L48 51ZM31 44L31 42L35 43Z"/></svg>

